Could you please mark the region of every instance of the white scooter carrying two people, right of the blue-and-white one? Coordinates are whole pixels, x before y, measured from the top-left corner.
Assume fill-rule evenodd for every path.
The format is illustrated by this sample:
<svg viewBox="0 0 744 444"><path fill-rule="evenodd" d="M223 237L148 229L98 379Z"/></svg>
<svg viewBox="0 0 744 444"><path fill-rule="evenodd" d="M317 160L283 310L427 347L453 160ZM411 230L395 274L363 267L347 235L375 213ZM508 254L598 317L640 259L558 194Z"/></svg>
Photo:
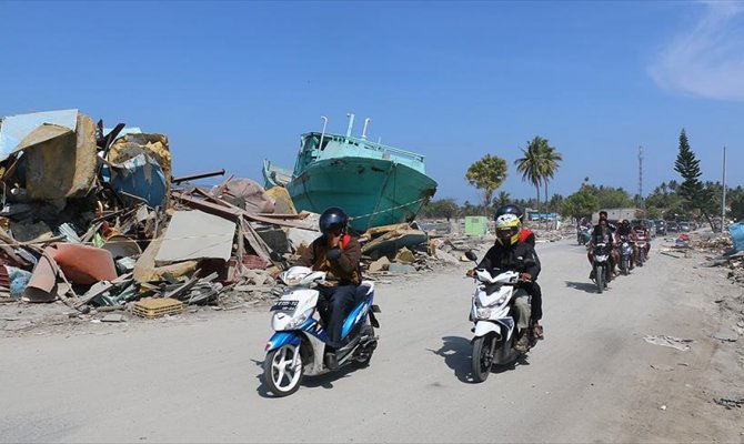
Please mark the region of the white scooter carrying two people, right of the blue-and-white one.
<svg viewBox="0 0 744 444"><path fill-rule="evenodd" d="M465 256L476 261L475 253L469 251ZM493 364L509 364L520 356L514 350L516 343L517 313L512 300L521 295L524 289L519 284L520 273L505 271L491 275L487 270L476 270L477 286L473 292L470 319L475 323L472 340L472 374L474 382L483 382L491 374ZM530 337L530 347L535 344Z"/></svg>

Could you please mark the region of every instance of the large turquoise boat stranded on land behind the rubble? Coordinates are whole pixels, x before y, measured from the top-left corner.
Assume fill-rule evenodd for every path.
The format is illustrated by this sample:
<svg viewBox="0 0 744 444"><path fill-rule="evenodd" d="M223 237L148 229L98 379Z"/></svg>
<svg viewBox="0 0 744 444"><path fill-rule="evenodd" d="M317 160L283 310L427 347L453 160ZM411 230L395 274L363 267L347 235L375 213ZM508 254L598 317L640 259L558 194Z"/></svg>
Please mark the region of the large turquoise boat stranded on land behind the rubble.
<svg viewBox="0 0 744 444"><path fill-rule="evenodd" d="M423 155L369 141L369 122L354 138L353 114L345 135L326 133L324 119L323 131L302 134L291 174L264 161L267 186L285 186L298 210L321 213L341 206L360 232L412 221L434 195L436 182L426 175Z"/></svg>

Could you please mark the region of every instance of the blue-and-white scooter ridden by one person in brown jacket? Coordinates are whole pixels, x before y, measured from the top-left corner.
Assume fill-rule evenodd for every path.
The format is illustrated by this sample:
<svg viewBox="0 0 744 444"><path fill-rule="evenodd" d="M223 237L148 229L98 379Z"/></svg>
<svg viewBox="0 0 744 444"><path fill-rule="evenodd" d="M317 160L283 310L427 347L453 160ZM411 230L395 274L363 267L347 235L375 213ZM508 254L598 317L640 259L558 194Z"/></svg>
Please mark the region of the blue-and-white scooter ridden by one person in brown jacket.
<svg viewBox="0 0 744 444"><path fill-rule="evenodd" d="M279 279L286 284L283 295L273 304L271 327L273 336L265 346L263 382L277 396L288 396L300 389L304 376L326 373L323 360L329 336L322 321L315 316L316 290L325 280L325 272L312 271L305 266L292 266L283 271ZM336 350L339 367L351 364L365 367L372 360L380 327L374 313L374 283L362 281L356 289L354 309L346 316L341 329L341 349ZM335 369L334 369L335 370Z"/></svg>

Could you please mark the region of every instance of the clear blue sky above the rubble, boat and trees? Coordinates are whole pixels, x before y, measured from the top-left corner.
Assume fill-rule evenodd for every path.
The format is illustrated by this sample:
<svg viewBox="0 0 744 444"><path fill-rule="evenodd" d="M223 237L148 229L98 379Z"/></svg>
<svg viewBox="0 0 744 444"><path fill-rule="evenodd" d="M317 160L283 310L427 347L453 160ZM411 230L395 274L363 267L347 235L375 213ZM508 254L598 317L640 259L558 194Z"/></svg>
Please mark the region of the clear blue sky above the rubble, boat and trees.
<svg viewBox="0 0 744 444"><path fill-rule="evenodd" d="M299 135L355 134L419 152L436 198L472 202L486 153L503 190L535 135L564 158L550 185L585 176L644 194L673 171L680 130L704 180L744 184L744 3L0 2L0 115L78 108L167 133L174 174L224 168L261 180L292 167Z"/></svg>

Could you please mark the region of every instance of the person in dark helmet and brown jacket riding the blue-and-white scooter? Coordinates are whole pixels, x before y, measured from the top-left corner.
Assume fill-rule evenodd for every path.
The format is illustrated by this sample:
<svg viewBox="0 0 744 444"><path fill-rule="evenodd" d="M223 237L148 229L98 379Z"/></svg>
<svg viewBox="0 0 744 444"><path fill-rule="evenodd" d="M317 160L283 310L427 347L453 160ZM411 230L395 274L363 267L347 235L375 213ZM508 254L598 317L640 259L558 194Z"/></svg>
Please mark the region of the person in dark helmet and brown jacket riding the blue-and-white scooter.
<svg viewBox="0 0 744 444"><path fill-rule="evenodd" d="M310 244L296 263L326 272L328 285L318 289L318 307L330 340L325 365L331 370L338 367L336 349L343 345L341 327L354 309L356 286L362 282L362 249L356 239L346 233L348 224L349 216L342 209L331 206L325 210L319 221L322 235Z"/></svg>

